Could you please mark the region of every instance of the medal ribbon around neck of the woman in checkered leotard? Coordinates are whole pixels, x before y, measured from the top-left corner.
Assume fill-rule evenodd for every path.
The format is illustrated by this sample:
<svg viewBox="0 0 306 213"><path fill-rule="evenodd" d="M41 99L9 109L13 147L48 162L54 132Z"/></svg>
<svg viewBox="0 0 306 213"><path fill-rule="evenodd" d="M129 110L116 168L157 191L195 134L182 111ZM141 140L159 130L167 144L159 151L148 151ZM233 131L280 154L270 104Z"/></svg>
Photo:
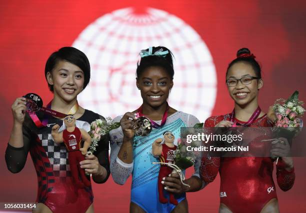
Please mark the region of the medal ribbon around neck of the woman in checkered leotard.
<svg viewBox="0 0 306 213"><path fill-rule="evenodd" d="M64 114L64 113L52 110L51 109L51 102L52 102L52 100L46 105L46 107L42 106L40 108L40 110L45 113L44 116L43 116L42 122L39 120L39 118L38 118L38 116L36 115L35 112L27 110L28 115L32 118L33 122L35 123L35 125L38 128L46 126L46 124L48 123L48 116L49 115L63 118L65 116L67 116L68 114L75 114L77 109L78 109L78 102L76 101L76 103L68 111L68 114Z"/></svg>

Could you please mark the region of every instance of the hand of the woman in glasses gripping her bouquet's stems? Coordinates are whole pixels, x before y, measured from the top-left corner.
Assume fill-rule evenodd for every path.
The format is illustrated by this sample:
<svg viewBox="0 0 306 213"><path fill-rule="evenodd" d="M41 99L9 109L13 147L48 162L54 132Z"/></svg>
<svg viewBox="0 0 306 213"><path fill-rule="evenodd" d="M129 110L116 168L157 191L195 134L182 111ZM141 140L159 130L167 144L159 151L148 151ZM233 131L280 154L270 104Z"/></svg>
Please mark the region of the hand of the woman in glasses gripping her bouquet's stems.
<svg viewBox="0 0 306 213"><path fill-rule="evenodd" d="M290 170L293 168L292 157L289 157L290 144L285 137L278 138L281 142L276 142L271 145L271 156L281 157L281 160L286 165L286 169Z"/></svg>

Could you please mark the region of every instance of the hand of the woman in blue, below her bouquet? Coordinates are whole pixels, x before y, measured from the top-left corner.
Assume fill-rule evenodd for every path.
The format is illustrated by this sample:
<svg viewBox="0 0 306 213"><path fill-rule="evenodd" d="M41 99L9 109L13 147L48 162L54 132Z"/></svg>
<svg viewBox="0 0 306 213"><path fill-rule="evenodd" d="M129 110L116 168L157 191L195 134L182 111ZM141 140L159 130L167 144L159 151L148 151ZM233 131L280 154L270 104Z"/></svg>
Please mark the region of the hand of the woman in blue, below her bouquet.
<svg viewBox="0 0 306 213"><path fill-rule="evenodd" d="M181 194L185 192L186 186L184 186L181 181L180 177L177 173L171 173L167 177L163 177L161 184L164 185L165 190L168 192L176 193L176 194Z"/></svg>

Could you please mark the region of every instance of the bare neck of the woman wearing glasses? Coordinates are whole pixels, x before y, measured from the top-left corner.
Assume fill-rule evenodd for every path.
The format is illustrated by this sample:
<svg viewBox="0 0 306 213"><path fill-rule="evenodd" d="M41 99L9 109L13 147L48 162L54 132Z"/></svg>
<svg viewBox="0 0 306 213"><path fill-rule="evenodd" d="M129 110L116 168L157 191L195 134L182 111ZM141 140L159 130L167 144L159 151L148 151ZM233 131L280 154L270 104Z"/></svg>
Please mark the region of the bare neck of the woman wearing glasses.
<svg viewBox="0 0 306 213"><path fill-rule="evenodd" d="M241 121L248 121L248 119L252 116L252 114L254 113L257 107L258 107L257 98L254 98L251 102L245 105L239 105L235 103L235 107L234 107L235 118Z"/></svg>

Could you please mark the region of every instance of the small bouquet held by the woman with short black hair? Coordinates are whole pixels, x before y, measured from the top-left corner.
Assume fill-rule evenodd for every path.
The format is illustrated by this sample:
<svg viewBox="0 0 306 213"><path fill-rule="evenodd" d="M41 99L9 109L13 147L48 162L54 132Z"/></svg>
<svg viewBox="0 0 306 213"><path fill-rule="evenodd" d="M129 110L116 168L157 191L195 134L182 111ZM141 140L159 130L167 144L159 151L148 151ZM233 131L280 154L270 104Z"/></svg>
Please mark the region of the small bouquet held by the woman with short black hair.
<svg viewBox="0 0 306 213"><path fill-rule="evenodd" d="M110 130L118 128L120 126L119 122L111 122L111 117L106 117L105 120L96 119L90 123L90 131L88 132L91 137L91 145L88 151L91 153L95 151L98 141L101 136L107 134Z"/></svg>

